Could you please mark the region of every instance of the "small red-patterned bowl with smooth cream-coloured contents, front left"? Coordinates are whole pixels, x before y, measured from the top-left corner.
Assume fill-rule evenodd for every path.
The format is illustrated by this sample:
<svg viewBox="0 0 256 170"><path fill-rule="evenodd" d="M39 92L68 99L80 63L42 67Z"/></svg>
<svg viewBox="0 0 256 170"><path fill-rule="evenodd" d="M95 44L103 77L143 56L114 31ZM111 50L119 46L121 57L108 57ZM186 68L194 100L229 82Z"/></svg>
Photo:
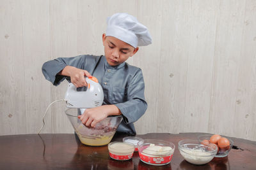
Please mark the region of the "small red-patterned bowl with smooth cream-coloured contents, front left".
<svg viewBox="0 0 256 170"><path fill-rule="evenodd" d="M109 156L115 160L129 160L132 158L135 146L126 142L111 142L108 144Z"/></svg>

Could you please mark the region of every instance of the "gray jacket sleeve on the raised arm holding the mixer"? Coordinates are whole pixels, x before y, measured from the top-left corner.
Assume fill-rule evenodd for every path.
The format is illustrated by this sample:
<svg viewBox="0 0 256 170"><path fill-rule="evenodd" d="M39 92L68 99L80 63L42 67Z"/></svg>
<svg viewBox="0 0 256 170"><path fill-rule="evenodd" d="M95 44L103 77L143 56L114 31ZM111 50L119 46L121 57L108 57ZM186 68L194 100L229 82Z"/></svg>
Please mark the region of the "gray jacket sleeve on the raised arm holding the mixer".
<svg viewBox="0 0 256 170"><path fill-rule="evenodd" d="M46 80L51 81L53 85L59 85L67 76L58 75L58 73L66 66L74 66L84 69L84 55L77 57L63 57L45 62L42 66L42 72Z"/></svg>

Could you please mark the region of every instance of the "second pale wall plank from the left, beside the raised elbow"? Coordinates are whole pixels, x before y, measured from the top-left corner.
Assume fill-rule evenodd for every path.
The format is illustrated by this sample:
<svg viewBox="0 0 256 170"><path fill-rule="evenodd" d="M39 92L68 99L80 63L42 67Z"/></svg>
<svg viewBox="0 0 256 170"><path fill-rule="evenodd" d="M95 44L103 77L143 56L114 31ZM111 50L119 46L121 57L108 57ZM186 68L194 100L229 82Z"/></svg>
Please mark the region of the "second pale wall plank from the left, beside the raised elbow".
<svg viewBox="0 0 256 170"><path fill-rule="evenodd" d="M51 103L49 82L42 75L42 64L50 59L49 2L24 1L22 9L26 133L36 133L44 110ZM44 42L44 43L42 43ZM42 132L51 132L51 113L45 117Z"/></svg>

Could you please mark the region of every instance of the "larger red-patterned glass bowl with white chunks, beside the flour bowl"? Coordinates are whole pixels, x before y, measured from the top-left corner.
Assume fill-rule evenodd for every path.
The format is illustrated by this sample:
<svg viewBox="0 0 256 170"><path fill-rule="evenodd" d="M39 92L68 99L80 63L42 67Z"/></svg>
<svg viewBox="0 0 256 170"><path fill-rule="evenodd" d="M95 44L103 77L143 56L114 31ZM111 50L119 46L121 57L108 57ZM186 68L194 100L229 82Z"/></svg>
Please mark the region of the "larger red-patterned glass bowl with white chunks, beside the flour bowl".
<svg viewBox="0 0 256 170"><path fill-rule="evenodd" d="M168 141L143 139L138 142L140 160L153 166L169 164L173 157L175 145Z"/></svg>

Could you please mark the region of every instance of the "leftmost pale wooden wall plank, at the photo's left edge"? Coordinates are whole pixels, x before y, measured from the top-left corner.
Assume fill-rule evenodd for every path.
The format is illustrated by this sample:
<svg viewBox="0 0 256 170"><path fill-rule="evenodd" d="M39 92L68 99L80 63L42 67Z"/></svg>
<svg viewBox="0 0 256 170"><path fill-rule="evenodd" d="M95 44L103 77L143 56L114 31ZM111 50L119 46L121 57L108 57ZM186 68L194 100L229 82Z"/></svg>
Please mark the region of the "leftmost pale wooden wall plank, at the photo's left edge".
<svg viewBox="0 0 256 170"><path fill-rule="evenodd" d="M21 3L2 1L0 5L0 131L1 134L26 134L26 57Z"/></svg>

